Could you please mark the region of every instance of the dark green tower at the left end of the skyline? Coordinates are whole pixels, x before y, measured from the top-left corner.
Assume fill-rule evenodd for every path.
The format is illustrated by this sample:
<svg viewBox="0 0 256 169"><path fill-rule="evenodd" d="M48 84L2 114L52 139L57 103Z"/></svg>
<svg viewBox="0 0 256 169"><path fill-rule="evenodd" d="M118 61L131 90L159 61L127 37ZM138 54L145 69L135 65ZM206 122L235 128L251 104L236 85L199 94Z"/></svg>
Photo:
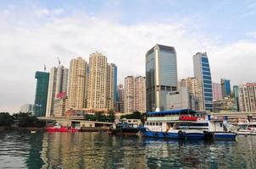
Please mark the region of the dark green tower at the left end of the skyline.
<svg viewBox="0 0 256 169"><path fill-rule="evenodd" d="M49 73L36 71L35 78L37 79L37 81L36 81L34 115L36 117L45 117L46 107L47 107L47 90L48 90L48 82L49 82Z"/></svg>

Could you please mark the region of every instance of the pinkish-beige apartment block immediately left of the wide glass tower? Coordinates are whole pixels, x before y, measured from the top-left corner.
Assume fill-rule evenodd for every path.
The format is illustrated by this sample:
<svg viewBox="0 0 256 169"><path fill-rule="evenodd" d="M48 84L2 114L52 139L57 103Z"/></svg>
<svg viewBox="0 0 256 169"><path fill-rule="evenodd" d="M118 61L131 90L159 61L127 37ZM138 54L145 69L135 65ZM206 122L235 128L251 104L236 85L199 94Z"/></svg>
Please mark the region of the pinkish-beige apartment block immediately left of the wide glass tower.
<svg viewBox="0 0 256 169"><path fill-rule="evenodd" d="M146 78L127 76L124 93L125 113L146 112Z"/></svg>

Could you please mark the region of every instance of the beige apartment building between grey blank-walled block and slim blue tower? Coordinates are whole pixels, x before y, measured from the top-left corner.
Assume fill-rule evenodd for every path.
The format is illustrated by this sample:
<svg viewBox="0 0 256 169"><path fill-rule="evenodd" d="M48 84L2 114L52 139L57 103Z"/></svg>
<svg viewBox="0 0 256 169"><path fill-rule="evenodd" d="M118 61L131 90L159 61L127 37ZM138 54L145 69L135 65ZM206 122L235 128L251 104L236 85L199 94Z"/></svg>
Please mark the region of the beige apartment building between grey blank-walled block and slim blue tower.
<svg viewBox="0 0 256 169"><path fill-rule="evenodd" d="M185 86L188 87L190 95L194 95L195 99L198 101L198 109L195 109L195 110L203 111L204 110L203 85L201 80L194 77L181 79L181 87L185 87Z"/></svg>

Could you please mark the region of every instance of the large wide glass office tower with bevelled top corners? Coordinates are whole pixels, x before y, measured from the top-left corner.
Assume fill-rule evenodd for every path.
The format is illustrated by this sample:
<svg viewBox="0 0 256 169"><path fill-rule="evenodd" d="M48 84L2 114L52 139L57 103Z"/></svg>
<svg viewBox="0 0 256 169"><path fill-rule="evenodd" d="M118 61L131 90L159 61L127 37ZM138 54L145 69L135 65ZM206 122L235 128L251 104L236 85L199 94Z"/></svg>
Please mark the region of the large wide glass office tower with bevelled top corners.
<svg viewBox="0 0 256 169"><path fill-rule="evenodd" d="M166 95L177 89L175 48L155 45L146 53L147 112L166 110Z"/></svg>

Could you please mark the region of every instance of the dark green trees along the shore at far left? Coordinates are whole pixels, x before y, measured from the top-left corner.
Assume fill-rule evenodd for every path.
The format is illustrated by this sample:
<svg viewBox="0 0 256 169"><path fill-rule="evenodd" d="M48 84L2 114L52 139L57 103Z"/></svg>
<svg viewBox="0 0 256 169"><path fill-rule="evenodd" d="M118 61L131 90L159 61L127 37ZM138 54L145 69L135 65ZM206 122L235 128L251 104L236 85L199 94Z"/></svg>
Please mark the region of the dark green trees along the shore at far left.
<svg viewBox="0 0 256 169"><path fill-rule="evenodd" d="M2 127L19 127L19 128L42 128L44 122L32 116L31 112L19 112L10 115L8 112L0 112L0 126Z"/></svg>

